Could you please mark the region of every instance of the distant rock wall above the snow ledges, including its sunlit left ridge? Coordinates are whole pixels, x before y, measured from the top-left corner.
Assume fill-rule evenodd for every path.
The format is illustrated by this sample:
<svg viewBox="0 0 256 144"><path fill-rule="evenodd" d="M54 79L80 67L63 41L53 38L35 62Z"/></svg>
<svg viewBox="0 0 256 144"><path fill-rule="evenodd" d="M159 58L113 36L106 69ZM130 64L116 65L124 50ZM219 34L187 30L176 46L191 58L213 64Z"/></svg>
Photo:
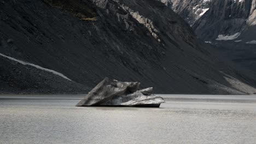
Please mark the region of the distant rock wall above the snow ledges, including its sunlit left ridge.
<svg viewBox="0 0 256 144"><path fill-rule="evenodd" d="M255 0L173 0L172 3L172 9L193 26L202 40L215 41L219 35L240 33L245 43L246 40L251 41L256 33L251 28L256 25ZM200 9L205 9L205 13L196 16ZM247 31L251 34L244 38Z"/></svg>

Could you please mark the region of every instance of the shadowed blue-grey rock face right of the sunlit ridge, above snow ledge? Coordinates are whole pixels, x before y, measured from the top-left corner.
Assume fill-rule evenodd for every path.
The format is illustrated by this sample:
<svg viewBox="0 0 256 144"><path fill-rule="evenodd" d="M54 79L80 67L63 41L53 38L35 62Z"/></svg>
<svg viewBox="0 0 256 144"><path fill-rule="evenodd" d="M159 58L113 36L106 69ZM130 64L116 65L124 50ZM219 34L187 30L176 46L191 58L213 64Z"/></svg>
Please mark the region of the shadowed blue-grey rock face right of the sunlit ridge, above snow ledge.
<svg viewBox="0 0 256 144"><path fill-rule="evenodd" d="M207 41L216 40L218 35L243 33L248 27L253 26L251 20L247 21L249 17L252 17L252 5L253 0L212 1L208 13L197 20L193 28L197 35Z"/></svg>

